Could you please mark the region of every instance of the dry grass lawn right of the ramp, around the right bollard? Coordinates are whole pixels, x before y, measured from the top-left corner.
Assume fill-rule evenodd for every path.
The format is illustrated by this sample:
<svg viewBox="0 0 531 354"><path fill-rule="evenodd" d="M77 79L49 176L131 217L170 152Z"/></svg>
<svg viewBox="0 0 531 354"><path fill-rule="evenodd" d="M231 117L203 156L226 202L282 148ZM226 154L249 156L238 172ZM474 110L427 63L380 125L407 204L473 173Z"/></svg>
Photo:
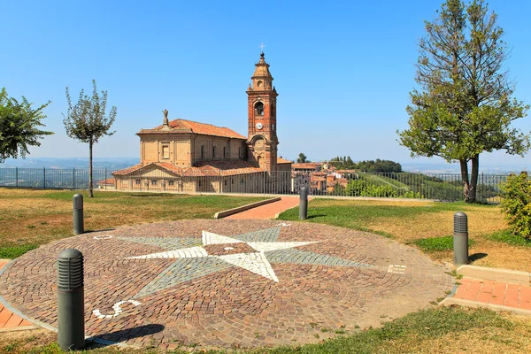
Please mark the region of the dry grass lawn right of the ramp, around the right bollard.
<svg viewBox="0 0 531 354"><path fill-rule="evenodd" d="M531 242L510 235L496 205L315 198L309 202L308 221L392 237L451 262L453 214L458 211L468 215L473 265L531 272ZM298 208L281 213L280 219L298 219Z"/></svg>

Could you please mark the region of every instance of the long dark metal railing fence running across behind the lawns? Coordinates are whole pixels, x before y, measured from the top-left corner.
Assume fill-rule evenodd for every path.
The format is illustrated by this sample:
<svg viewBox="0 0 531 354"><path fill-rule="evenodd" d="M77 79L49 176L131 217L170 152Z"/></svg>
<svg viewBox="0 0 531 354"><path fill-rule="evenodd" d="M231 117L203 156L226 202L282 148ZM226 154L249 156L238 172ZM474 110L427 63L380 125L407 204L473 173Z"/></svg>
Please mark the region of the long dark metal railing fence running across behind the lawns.
<svg viewBox="0 0 531 354"><path fill-rule="evenodd" d="M206 176L178 175L152 169L113 176L95 169L95 189L181 193L296 195L306 187L312 196L373 196L444 201L463 200L459 173L259 172ZM477 200L499 203L499 184L506 174L481 173ZM88 189L87 169L0 168L0 186L35 189Z"/></svg>

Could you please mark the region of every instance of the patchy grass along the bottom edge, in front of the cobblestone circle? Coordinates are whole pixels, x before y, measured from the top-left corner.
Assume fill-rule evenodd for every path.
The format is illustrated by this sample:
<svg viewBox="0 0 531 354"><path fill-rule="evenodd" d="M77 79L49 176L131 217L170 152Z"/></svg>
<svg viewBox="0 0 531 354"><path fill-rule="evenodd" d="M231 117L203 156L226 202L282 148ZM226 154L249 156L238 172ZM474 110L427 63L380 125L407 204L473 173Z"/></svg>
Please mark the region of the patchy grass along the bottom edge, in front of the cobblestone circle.
<svg viewBox="0 0 531 354"><path fill-rule="evenodd" d="M279 347L274 349L229 350L248 354L319 354L319 353L528 353L531 350L531 323L517 316L500 315L489 310L430 308L410 313L402 319L387 322L381 328L345 328L334 339L317 344ZM57 335L49 331L0 335L0 352L59 354ZM222 353L183 345L171 353ZM88 350L94 354L162 353L157 349L102 348Z"/></svg>

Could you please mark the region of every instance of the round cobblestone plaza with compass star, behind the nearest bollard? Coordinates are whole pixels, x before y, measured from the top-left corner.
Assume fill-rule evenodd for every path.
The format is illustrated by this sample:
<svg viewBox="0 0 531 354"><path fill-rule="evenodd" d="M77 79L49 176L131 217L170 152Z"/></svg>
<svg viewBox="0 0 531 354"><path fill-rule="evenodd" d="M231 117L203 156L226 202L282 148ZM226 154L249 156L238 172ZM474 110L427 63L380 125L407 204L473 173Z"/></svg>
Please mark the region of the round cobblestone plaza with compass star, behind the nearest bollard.
<svg viewBox="0 0 531 354"><path fill-rule="evenodd" d="M57 327L56 260L85 258L87 335L138 346L319 342L425 308L453 286L380 235L275 220L181 220L66 238L17 258L0 294Z"/></svg>

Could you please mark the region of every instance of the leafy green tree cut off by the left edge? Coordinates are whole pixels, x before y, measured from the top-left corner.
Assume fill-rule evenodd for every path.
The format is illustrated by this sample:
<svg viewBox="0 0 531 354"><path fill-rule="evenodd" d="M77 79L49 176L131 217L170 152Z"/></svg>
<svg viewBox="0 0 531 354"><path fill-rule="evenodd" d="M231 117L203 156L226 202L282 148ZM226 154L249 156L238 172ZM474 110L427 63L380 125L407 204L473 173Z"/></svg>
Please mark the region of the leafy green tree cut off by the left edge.
<svg viewBox="0 0 531 354"><path fill-rule="evenodd" d="M0 162L6 158L26 158L29 146L41 146L43 135L53 135L44 127L41 119L46 118L42 110L50 104L32 108L32 103L22 96L22 102L9 97L7 91L0 91Z"/></svg>

